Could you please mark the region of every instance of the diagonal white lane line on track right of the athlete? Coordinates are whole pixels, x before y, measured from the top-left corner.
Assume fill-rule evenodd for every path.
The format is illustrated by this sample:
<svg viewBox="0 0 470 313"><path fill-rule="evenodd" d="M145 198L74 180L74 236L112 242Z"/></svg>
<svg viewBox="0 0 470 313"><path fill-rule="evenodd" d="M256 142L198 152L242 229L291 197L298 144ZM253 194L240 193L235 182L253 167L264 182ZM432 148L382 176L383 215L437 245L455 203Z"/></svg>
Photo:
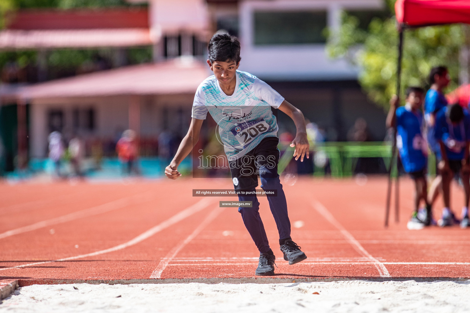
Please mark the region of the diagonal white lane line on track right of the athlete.
<svg viewBox="0 0 470 313"><path fill-rule="evenodd" d="M391 277L390 273L388 272L387 268L385 267L384 263L380 262L376 258L374 258L369 252L364 249L364 247L357 241L354 237L352 237L351 233L347 231L343 225L341 225L337 219L328 211L328 209L323 206L317 200L312 201L312 206L318 213L321 214L327 221L329 221L334 227L336 227L346 238L346 240L352 245L354 250L359 252L362 256L368 258L374 266L377 268L380 277Z"/></svg>

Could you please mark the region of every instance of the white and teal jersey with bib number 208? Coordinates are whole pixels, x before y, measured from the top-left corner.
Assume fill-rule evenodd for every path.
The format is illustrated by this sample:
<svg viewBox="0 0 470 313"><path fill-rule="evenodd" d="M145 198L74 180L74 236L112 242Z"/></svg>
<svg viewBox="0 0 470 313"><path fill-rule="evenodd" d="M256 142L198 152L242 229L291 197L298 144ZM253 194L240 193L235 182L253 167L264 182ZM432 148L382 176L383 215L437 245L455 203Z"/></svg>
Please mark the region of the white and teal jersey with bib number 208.
<svg viewBox="0 0 470 313"><path fill-rule="evenodd" d="M209 112L218 124L221 143L228 160L235 160L256 147L266 137L277 136L276 117L284 98L258 77L236 71L235 92L227 96L214 75L196 91L192 117L204 120Z"/></svg>

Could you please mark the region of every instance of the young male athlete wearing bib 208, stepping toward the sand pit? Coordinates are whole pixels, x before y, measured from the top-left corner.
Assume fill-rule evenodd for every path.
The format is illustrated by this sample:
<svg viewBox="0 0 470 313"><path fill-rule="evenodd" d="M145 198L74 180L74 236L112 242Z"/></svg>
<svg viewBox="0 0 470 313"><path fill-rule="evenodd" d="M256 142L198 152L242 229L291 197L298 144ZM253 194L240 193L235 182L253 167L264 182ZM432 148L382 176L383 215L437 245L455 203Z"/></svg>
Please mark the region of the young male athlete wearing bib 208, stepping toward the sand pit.
<svg viewBox="0 0 470 313"><path fill-rule="evenodd" d="M209 41L207 64L214 75L206 78L194 97L191 125L178 151L165 169L168 178L181 174L178 165L191 152L199 139L201 125L209 112L219 126L219 134L229 161L235 191L254 191L258 186L275 191L268 196L269 207L279 231L279 244L284 260L295 264L307 257L290 237L287 202L277 174L279 150L277 122L271 107L289 115L297 127L297 135L290 146L295 146L296 160L309 157L309 144L304 115L274 91L268 84L249 73L238 71L240 42L228 34L215 34ZM260 252L256 275L274 275L274 253L269 247L266 232L259 216L259 202L255 195L238 196L240 201L252 201L252 207L239 207L243 223Z"/></svg>

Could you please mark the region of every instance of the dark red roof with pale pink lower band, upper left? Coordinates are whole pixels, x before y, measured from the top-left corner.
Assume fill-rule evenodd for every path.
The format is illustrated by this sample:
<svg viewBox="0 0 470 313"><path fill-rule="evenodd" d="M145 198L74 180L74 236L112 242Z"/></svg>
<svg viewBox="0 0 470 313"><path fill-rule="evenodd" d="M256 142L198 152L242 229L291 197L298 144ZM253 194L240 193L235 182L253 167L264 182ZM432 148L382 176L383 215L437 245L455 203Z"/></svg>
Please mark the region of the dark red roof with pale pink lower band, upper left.
<svg viewBox="0 0 470 313"><path fill-rule="evenodd" d="M20 10L0 31L0 50L149 46L146 8Z"/></svg>

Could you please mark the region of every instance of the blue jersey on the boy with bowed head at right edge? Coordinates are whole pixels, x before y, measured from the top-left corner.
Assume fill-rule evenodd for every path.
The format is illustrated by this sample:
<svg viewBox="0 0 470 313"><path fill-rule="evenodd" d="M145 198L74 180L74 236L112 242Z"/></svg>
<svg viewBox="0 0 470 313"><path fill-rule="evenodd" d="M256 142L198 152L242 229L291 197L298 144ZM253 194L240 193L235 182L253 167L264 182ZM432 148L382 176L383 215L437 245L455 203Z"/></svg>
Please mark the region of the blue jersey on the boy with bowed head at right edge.
<svg viewBox="0 0 470 313"><path fill-rule="evenodd" d="M462 160L465 154L465 145L470 140L470 115L466 109L463 110L463 120L453 124L446 117L447 107L442 108L436 116L436 141L442 140L446 146L447 158L449 160Z"/></svg>

